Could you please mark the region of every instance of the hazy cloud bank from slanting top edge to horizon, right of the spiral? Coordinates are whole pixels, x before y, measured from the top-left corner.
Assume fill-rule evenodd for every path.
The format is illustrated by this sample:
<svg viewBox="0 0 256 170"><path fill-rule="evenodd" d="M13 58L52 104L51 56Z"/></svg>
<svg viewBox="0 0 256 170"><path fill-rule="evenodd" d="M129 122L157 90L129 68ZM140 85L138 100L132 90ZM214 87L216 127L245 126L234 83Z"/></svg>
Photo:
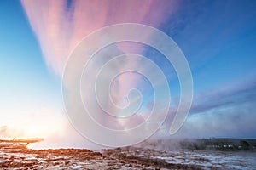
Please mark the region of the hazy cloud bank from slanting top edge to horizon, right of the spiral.
<svg viewBox="0 0 256 170"><path fill-rule="evenodd" d="M256 80L247 77L195 96L179 138L255 138ZM172 122L172 115L169 122Z"/></svg>

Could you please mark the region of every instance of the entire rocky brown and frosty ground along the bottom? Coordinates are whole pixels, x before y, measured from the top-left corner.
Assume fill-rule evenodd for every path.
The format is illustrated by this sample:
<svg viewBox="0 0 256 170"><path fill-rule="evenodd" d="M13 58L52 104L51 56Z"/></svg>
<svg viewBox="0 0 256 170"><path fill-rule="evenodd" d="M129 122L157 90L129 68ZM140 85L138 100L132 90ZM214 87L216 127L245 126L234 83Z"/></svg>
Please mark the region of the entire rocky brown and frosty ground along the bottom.
<svg viewBox="0 0 256 170"><path fill-rule="evenodd" d="M1 169L255 169L255 152L0 149Z"/></svg>

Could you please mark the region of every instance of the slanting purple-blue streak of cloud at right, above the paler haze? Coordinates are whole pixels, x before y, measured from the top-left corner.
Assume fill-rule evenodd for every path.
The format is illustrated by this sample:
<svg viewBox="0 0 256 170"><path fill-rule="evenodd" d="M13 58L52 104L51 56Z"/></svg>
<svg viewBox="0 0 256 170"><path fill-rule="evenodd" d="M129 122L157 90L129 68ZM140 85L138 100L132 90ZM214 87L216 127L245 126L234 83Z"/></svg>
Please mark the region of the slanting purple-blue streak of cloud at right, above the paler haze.
<svg viewBox="0 0 256 170"><path fill-rule="evenodd" d="M251 78L241 80L195 96L191 114L200 114L218 107L241 105L256 100L256 80Z"/></svg>

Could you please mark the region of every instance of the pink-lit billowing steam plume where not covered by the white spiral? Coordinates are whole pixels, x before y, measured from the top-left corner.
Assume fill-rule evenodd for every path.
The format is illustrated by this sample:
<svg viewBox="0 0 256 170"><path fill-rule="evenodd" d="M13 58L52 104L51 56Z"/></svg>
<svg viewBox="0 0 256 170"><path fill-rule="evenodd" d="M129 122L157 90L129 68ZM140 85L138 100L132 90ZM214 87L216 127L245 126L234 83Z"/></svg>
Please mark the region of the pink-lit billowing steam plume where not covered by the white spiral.
<svg viewBox="0 0 256 170"><path fill-rule="evenodd" d="M76 45L92 31L118 23L140 23L158 27L174 12L177 3L174 1L21 1L26 11L32 30L44 54L44 59L55 74L63 74L69 54ZM150 32L143 35L150 37ZM99 42L91 42L99 43ZM143 48L121 43L111 47L113 53L109 55L129 53L142 53ZM110 49L111 49L110 48ZM108 50L109 53L109 50ZM97 63L96 69L98 70ZM140 65L127 58L118 67ZM115 69L115 68L113 68ZM94 75L94 74L92 74ZM86 77L85 77L86 78ZM113 100L117 105L125 105L124 97L131 88L140 83L141 77L137 75L120 75L113 82ZM90 89L84 89L84 94L92 95ZM108 103L108 102L107 102ZM143 116L137 116L139 122ZM101 120L100 120L101 121ZM108 123L108 120L102 120ZM128 125L129 126L129 125Z"/></svg>

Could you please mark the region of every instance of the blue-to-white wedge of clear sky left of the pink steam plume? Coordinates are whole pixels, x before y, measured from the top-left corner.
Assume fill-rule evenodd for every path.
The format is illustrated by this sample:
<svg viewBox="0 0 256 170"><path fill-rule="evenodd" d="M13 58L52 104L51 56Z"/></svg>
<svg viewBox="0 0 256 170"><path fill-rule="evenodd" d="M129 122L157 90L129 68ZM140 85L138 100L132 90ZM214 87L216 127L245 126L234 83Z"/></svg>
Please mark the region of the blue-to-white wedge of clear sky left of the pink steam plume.
<svg viewBox="0 0 256 170"><path fill-rule="evenodd" d="M20 2L3 1L0 8L0 124L17 137L28 137L36 135L32 128L40 120L34 119L44 114L45 123L49 121L45 115L62 111L61 79L44 64ZM11 136L5 134L1 137Z"/></svg>

